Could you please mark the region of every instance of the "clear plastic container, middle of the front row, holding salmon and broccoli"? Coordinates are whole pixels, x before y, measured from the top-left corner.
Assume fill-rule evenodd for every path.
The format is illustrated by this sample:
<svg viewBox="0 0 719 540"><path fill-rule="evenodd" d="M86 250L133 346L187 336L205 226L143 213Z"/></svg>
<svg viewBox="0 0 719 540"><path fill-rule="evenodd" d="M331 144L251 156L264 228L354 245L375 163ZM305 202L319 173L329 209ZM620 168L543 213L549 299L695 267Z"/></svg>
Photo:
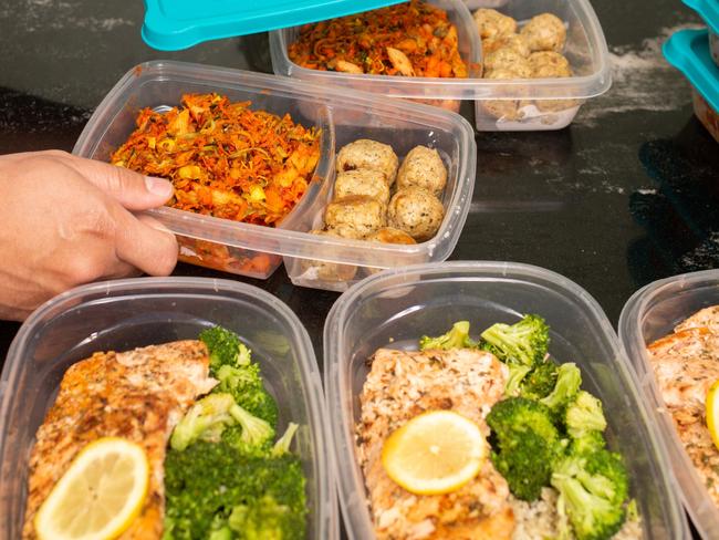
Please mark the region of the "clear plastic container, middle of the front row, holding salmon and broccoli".
<svg viewBox="0 0 719 540"><path fill-rule="evenodd" d="M389 270L361 282L332 308L324 329L324 384L335 447L340 501L351 539L374 538L354 425L366 360L381 346L416 349L458 320L473 336L523 313L544 316L550 351L575 362L584 387L597 395L607 440L631 475L646 539L690 538L665 451L639 396L622 346L600 305L572 281L541 268L509 262L445 262Z"/></svg>

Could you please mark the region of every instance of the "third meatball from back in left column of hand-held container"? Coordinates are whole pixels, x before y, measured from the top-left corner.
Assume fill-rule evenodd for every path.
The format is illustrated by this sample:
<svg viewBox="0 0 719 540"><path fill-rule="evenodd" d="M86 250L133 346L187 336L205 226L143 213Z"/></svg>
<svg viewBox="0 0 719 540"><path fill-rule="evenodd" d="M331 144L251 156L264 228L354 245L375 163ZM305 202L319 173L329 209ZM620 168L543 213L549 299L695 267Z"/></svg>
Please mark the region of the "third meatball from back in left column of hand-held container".
<svg viewBox="0 0 719 540"><path fill-rule="evenodd" d="M385 205L366 195L334 199L324 212L327 229L345 238L366 238L385 222Z"/></svg>

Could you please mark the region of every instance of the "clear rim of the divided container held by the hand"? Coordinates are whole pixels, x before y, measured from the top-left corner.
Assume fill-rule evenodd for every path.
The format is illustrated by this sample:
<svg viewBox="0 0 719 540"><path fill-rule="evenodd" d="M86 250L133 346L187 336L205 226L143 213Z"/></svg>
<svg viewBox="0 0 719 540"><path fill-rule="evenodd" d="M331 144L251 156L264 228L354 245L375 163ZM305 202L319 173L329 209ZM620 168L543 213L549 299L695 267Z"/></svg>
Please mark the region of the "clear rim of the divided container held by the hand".
<svg viewBox="0 0 719 540"><path fill-rule="evenodd" d="M202 216L175 208L161 207L147 210L147 214L161 220L161 222L176 235L186 236L207 241L218 241L227 246L251 249L264 253L301 259L312 258L330 262L348 264L368 264L383 267L383 261L400 266L410 263L419 257L430 257L434 260L446 259L459 240L459 232L469 212L469 204L475 186L477 170L477 152L475 129L462 116L439 107L405 101L387 101L369 92L336 87L316 82L299 81L285 76L254 73L231 68L211 66L173 60L153 60L137 64L128 70L115 86L105 95L95 113L82 131L72 150L81 157L92 156L102 138L106 125L101 125L98 112L110 111L113 117L118 114L126 92L138 84L138 80L165 80L198 82L207 84L217 83L228 89L259 89L262 91L278 91L298 97L322 102L323 97L331 97L333 105L341 107L343 104L353 108L373 111L378 117L403 118L418 125L427 124L427 129L452 129L457 135L457 146L460 153L466 153L468 159L459 159L457 170L457 189L451 200L447 201L447 216L437 231L437 235L425 242L416 245L372 243L372 261L367 261L367 242L333 237L317 237L308 232L265 227L253 224L243 224L229 219ZM326 100L325 100L326 101ZM334 129L334 121L331 127ZM300 202L301 204L301 202ZM457 216L451 216L449 210L459 209ZM211 229L211 230L208 230ZM445 238L449 235L449 239ZM281 238L283 241L278 242ZM324 252L322 247L324 248ZM326 255L329 251L338 252L340 249L355 248L354 253L346 251L341 257Z"/></svg>

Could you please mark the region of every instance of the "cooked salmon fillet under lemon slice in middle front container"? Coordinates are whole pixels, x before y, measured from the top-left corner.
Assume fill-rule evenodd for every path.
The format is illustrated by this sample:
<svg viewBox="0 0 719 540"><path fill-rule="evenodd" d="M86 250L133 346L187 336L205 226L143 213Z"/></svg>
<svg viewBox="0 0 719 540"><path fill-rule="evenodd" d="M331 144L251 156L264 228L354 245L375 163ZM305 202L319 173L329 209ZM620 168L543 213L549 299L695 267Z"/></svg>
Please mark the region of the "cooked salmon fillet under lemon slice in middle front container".
<svg viewBox="0 0 719 540"><path fill-rule="evenodd" d="M462 349L381 349L369 361L372 368L359 396L356 437L377 538L511 538L514 516L509 487L490 459L457 491L433 496L406 491L382 465L385 439L425 411L456 411L488 436L484 418L504 393L507 366L490 353Z"/></svg>

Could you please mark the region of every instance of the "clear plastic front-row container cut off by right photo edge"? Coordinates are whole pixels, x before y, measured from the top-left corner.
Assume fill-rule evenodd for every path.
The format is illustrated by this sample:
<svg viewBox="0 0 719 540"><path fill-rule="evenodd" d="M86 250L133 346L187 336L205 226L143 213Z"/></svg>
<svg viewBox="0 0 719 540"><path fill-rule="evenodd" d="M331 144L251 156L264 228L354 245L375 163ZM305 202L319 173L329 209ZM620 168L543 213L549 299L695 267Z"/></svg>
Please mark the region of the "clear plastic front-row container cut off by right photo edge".
<svg viewBox="0 0 719 540"><path fill-rule="evenodd" d="M653 423L668 450L687 511L705 539L719 538L719 508L709 498L664 406L646 346L670 334L674 326L700 309L713 304L719 304L719 270L706 270L649 283L627 301L619 316L619 339L643 399L649 405Z"/></svg>

